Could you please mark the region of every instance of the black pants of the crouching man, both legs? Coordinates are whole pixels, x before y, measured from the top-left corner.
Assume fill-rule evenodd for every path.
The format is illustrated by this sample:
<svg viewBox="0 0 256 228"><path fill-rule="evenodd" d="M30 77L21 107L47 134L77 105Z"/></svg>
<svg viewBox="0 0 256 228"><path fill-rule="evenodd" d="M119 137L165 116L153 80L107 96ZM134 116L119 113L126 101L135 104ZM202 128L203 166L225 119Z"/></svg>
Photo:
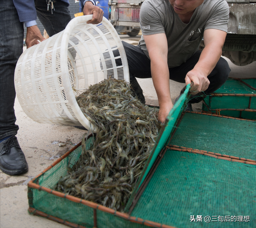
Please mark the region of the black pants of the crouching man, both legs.
<svg viewBox="0 0 256 228"><path fill-rule="evenodd" d="M134 89L136 95L140 99L140 101L145 103L145 97L143 95L143 91L138 81L136 80L136 77L138 78L152 77L151 70L150 70L150 59L148 59L148 57L144 54L140 46L134 46L132 44L128 44L123 41L122 41L122 44L124 46L124 50L125 50L128 65L129 65L130 84ZM200 54L201 52L198 51L190 59L188 59L185 63L182 63L180 66L169 68L170 79L180 83L185 83L186 74L188 73L188 71L194 68L194 66L199 60ZM209 95L210 93L213 93L218 88L220 88L228 79L229 73L230 73L230 68L229 68L228 62L221 57L218 63L216 64L216 67L208 75L210 85L208 89L204 91L204 93L206 95ZM201 94L193 95L192 97L195 97L195 99L190 100L190 102L198 103L202 101L202 99L204 99L205 97L205 96L202 96L198 98L198 95L200 96Z"/></svg>

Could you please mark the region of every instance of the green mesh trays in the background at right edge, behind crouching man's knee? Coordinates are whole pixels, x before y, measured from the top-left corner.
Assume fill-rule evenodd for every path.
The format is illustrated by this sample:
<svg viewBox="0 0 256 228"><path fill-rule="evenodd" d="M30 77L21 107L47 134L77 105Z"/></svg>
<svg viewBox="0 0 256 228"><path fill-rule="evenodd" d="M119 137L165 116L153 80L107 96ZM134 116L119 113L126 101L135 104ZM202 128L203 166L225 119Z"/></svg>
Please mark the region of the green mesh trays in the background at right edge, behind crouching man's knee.
<svg viewBox="0 0 256 228"><path fill-rule="evenodd" d="M242 119L256 119L256 78L229 78L204 99L202 110Z"/></svg>

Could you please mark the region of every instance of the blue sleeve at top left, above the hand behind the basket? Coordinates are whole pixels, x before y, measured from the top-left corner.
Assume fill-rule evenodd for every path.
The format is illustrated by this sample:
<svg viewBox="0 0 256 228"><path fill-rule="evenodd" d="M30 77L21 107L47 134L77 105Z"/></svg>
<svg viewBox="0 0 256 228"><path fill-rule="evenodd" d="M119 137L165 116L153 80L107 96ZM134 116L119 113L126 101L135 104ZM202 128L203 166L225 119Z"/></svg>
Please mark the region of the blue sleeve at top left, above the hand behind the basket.
<svg viewBox="0 0 256 228"><path fill-rule="evenodd" d="M36 20L34 0L13 0L13 3L18 12L20 22Z"/></svg>

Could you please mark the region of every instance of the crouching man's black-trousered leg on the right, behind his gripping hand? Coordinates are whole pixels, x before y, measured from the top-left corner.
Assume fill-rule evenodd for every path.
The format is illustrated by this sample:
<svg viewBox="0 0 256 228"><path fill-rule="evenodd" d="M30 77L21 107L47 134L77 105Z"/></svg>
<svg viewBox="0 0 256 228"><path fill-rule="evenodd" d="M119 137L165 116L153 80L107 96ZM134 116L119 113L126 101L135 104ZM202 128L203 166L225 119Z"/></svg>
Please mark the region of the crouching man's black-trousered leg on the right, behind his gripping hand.
<svg viewBox="0 0 256 228"><path fill-rule="evenodd" d="M188 59L186 63L182 63L182 65L178 67L170 68L170 79L177 82L185 83L186 74L188 73L188 71L194 68L200 58L200 54L201 52L198 51L190 59ZM224 58L220 57L218 63L216 64L212 72L208 75L208 79L210 81L208 89L206 89L206 91L204 92L192 95L190 103L198 103L202 101L206 97L206 95L210 95L218 88L220 88L228 79L229 73L230 67L228 65L228 62Z"/></svg>

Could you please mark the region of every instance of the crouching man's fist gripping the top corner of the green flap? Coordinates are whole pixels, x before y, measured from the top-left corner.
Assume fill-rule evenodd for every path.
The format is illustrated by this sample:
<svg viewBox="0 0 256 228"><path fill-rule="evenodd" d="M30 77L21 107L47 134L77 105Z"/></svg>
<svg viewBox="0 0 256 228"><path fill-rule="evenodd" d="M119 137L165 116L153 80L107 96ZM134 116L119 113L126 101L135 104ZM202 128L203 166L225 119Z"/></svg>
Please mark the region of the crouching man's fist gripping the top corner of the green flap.
<svg viewBox="0 0 256 228"><path fill-rule="evenodd" d="M185 77L186 85L193 81L193 85L190 88L190 93L195 95L201 91L206 91L210 85L210 81L207 78L206 73L198 69L192 69L189 71Z"/></svg>

